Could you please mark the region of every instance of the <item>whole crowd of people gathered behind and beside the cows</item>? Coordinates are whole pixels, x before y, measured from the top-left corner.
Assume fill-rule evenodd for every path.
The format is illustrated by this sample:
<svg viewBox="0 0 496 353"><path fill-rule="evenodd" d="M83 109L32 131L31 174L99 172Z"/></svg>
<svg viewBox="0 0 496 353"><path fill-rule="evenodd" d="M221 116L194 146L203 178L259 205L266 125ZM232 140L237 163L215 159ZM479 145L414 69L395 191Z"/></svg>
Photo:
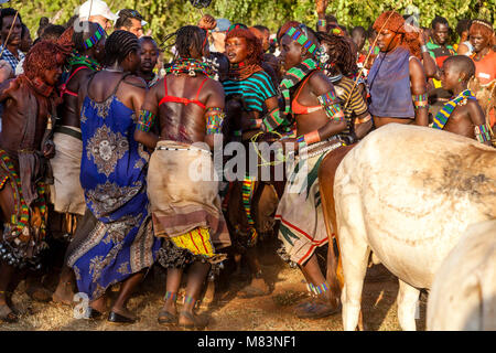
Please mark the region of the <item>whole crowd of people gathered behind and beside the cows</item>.
<svg viewBox="0 0 496 353"><path fill-rule="evenodd" d="M165 39L170 62L132 9L86 1L65 24L43 19L34 42L15 9L1 10L0 321L19 320L12 295L25 280L35 300L85 293L86 319L136 322L127 302L162 266L159 322L202 329L196 303L225 261L239 269L246 258L244 296L270 293L258 247L267 235L306 280L294 314L339 311L338 281L315 253L327 245L335 268L321 165L391 122L493 146L496 41L485 20L461 20L453 43L445 19L420 28L396 11L348 29L316 3L314 29L206 14ZM283 180L248 172L260 141L280 143L274 160L293 156ZM234 142L241 176L215 178L214 151ZM47 293L41 277L55 269Z"/></svg>

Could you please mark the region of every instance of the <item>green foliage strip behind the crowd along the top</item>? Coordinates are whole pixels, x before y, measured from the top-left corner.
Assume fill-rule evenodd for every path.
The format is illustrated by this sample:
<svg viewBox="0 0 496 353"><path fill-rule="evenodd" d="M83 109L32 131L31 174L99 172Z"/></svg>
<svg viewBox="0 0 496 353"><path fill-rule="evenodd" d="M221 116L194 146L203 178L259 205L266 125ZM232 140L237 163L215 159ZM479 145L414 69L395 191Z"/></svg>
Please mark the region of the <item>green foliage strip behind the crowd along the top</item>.
<svg viewBox="0 0 496 353"><path fill-rule="evenodd" d="M33 32L37 30L41 17L48 17L55 23L64 23L84 0L12 0L10 7L20 9L23 21ZM202 12L186 0L107 0L110 9L131 8L140 11L153 36L161 41L168 33L185 24L197 23ZM483 18L495 23L496 0L330 0L327 13L334 14L347 28L368 28L386 10L396 8L400 13L409 7L420 10L420 24L429 26L435 15L448 19L454 29L460 19ZM298 20L315 26L314 0L213 0L203 10L216 18L227 18L231 22L247 25L265 24L272 31L289 20ZM495 25L496 28L496 25Z"/></svg>

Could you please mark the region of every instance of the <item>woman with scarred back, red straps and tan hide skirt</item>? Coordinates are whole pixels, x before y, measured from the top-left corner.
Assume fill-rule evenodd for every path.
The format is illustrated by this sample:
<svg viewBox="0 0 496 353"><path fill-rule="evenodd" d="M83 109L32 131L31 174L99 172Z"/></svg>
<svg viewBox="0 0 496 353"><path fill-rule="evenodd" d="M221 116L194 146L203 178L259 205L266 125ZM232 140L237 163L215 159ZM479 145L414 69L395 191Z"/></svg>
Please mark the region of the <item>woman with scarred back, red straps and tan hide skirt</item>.
<svg viewBox="0 0 496 353"><path fill-rule="evenodd" d="M208 56L206 31L186 25L174 34L179 57L147 94L134 138L154 150L148 194L154 234L163 238L159 263L168 269L159 323L203 329L208 321L195 314L195 303L211 267L218 270L225 259L218 250L230 246L213 163L225 96L214 79L216 71L203 60ZM186 293L177 314L177 291L185 268Z"/></svg>

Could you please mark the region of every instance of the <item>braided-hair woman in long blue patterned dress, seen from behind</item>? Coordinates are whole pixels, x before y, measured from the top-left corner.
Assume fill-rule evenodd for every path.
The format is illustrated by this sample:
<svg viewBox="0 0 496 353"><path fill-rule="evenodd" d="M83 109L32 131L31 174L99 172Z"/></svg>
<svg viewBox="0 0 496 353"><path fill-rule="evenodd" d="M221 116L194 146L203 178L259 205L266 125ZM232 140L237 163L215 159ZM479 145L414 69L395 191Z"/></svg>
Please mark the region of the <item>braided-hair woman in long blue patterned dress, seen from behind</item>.
<svg viewBox="0 0 496 353"><path fill-rule="evenodd" d="M147 197L148 152L134 141L145 83L133 76L140 65L138 38L115 31L105 43L106 65L78 95L83 156L80 184L86 212L67 254L79 292L89 298L88 317L107 311L106 292L121 282L108 321L132 323L127 301L160 248Z"/></svg>

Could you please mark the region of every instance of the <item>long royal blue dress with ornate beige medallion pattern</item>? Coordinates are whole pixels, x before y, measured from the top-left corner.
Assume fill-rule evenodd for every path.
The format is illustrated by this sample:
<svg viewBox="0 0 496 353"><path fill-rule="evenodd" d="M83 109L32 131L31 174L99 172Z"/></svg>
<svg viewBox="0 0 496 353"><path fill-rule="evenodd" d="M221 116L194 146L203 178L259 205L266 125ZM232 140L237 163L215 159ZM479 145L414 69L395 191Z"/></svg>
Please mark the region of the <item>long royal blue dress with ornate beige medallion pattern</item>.
<svg viewBox="0 0 496 353"><path fill-rule="evenodd" d="M79 291L90 300L150 267L160 248L147 196L149 154L134 141L134 111L115 93L103 103L86 96L80 113L80 184L98 221L68 265Z"/></svg>

